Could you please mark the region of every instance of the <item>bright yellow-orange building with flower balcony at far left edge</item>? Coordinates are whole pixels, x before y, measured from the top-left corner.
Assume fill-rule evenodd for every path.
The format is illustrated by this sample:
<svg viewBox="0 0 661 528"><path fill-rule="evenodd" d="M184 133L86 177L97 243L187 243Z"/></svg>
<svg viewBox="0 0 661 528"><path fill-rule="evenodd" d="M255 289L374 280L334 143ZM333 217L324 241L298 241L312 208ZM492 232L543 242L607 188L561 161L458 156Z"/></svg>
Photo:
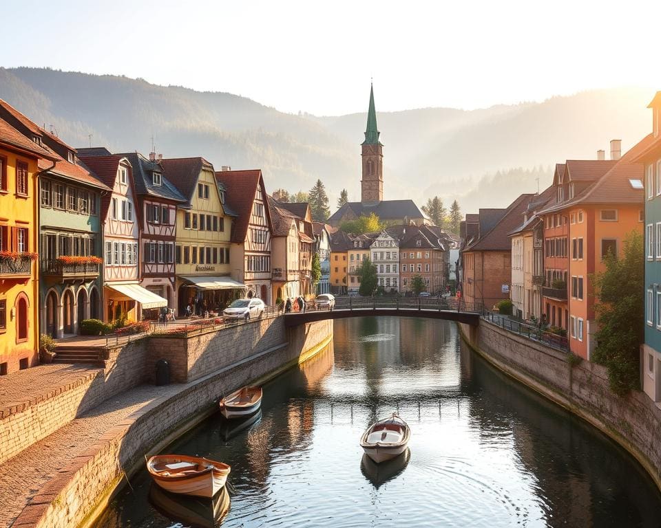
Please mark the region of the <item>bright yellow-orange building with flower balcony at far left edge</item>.
<svg viewBox="0 0 661 528"><path fill-rule="evenodd" d="M0 119L0 375L39 363L36 196L54 159Z"/></svg>

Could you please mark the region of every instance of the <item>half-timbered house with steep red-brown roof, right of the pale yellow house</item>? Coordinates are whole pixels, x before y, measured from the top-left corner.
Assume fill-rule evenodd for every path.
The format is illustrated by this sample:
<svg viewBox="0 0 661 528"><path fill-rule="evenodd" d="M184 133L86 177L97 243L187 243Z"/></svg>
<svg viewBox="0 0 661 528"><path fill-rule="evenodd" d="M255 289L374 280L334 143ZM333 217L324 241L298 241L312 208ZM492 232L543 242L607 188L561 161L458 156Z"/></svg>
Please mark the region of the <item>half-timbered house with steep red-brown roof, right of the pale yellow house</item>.
<svg viewBox="0 0 661 528"><path fill-rule="evenodd" d="M275 303L271 289L271 214L260 169L222 170L216 179L226 202L238 215L232 226L231 276L246 285L246 295Z"/></svg>

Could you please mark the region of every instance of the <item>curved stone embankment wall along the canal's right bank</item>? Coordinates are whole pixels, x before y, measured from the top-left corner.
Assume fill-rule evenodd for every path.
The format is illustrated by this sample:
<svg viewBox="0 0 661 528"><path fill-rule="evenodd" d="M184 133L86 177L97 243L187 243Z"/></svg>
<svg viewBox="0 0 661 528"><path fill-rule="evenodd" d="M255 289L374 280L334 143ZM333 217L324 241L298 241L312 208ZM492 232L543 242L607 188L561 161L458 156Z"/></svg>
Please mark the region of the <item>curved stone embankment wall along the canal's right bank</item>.
<svg viewBox="0 0 661 528"><path fill-rule="evenodd" d="M618 397L606 369L516 336L489 322L459 325L470 347L496 367L571 410L629 451L661 489L661 409L641 391Z"/></svg>

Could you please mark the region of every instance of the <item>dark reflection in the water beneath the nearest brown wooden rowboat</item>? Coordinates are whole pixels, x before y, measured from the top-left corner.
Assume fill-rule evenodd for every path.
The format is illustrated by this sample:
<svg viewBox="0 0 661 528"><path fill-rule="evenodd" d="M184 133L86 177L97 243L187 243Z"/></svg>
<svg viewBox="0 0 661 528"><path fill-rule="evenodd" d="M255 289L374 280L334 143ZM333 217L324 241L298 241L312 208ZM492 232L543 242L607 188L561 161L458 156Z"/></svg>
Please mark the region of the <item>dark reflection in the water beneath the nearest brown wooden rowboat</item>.
<svg viewBox="0 0 661 528"><path fill-rule="evenodd" d="M196 528L217 528L227 516L230 507L227 487L209 500L175 495L152 484L149 489L149 502L173 522Z"/></svg>

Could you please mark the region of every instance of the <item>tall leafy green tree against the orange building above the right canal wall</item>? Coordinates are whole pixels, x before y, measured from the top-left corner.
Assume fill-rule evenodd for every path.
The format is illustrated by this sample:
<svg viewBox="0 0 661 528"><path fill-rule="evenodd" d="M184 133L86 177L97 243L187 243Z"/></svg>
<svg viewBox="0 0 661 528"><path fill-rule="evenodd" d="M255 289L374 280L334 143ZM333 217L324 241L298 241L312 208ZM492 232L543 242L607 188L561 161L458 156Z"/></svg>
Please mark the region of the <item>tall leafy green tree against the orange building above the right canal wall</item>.
<svg viewBox="0 0 661 528"><path fill-rule="evenodd" d="M592 277L598 323L592 360L606 367L611 391L622 396L640 386L645 306L642 234L627 235L621 258L609 252L604 263L606 270Z"/></svg>

